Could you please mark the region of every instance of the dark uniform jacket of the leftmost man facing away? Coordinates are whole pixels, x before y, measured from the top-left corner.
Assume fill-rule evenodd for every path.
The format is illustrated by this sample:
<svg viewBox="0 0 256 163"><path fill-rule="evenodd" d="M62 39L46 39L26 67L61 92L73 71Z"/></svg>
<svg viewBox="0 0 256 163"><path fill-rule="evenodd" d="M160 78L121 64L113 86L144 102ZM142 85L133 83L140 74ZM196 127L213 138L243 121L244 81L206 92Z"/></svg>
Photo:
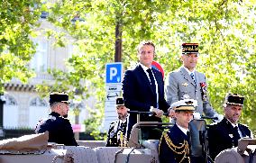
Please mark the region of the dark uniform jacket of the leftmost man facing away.
<svg viewBox="0 0 256 163"><path fill-rule="evenodd" d="M61 117L59 113L52 112L47 119L41 120L37 124L35 132L41 133L44 131L49 131L48 142L56 142L66 146L78 146L69 120Z"/></svg>

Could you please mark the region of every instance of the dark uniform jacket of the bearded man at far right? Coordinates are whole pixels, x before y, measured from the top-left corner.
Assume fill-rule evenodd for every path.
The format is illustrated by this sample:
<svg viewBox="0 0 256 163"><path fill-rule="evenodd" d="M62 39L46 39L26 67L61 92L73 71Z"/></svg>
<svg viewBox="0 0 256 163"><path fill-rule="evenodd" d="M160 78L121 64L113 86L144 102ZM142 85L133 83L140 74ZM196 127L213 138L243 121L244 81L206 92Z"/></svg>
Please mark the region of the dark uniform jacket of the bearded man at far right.
<svg viewBox="0 0 256 163"><path fill-rule="evenodd" d="M238 128L242 132L242 138L251 138L251 131L247 126L238 123ZM240 135L236 136L238 132L235 132L235 130L237 131L226 118L221 122L215 122L209 126L208 144L212 159L215 159L216 155L224 149L237 147Z"/></svg>

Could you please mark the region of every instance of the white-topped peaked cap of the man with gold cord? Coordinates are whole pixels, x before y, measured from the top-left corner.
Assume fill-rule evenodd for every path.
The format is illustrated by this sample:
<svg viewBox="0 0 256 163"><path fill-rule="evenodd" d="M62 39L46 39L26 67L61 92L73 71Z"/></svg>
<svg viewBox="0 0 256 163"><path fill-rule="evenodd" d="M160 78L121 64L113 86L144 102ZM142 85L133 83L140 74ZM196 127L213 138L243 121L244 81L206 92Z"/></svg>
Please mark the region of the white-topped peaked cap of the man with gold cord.
<svg viewBox="0 0 256 163"><path fill-rule="evenodd" d="M195 111L197 107L197 100L194 99L184 99L179 100L170 105L174 111Z"/></svg>

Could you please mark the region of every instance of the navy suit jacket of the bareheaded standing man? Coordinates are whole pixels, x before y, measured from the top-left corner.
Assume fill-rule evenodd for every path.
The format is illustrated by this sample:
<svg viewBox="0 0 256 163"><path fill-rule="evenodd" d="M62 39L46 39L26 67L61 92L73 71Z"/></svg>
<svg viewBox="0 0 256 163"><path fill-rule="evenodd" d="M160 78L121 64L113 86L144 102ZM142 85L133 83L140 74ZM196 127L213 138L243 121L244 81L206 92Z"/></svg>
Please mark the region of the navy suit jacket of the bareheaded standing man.
<svg viewBox="0 0 256 163"><path fill-rule="evenodd" d="M159 70L151 69L158 83L159 109L167 112L169 104L164 98L163 77ZM135 68L125 71L123 77L123 100L125 106L131 111L150 112L151 106L156 107L151 82L139 64ZM161 122L160 118L153 115L141 115L140 120L142 122ZM128 135L136 122L137 116L131 114L129 116Z"/></svg>

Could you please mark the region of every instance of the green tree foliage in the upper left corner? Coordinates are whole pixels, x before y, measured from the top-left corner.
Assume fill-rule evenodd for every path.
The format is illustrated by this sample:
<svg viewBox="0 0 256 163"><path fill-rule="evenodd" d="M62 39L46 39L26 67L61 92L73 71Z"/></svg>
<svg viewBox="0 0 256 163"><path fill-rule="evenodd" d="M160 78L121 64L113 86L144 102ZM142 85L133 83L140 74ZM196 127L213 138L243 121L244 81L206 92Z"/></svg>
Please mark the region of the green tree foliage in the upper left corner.
<svg viewBox="0 0 256 163"><path fill-rule="evenodd" d="M3 84L13 77L26 82L32 77L28 62L35 46L31 41L33 28L40 16L40 0L10 1L0 3L0 92Z"/></svg>

